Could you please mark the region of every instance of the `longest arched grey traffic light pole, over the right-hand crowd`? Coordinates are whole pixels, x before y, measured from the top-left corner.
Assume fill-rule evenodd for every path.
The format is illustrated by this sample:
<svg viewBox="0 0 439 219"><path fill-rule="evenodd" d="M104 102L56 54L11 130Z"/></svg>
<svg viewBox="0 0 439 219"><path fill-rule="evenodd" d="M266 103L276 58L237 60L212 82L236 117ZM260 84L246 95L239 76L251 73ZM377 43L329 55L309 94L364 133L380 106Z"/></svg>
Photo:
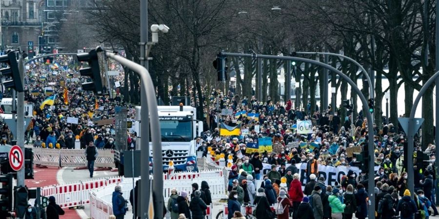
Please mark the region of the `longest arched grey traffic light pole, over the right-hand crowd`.
<svg viewBox="0 0 439 219"><path fill-rule="evenodd" d="M267 59L279 59L279 60L292 60L292 61L296 61L296 62L305 62L305 63L310 63L313 65L317 65L320 66L322 68L325 68L329 71L332 71L336 74L339 75L340 78L342 78L343 80L345 80L353 89L354 91L358 94L361 103L363 104L363 112L365 112L366 118L367 118L367 123L368 126L370 128L373 128L373 120L372 120L372 114L370 113L369 109L368 109L368 102L367 99L364 97L363 93L359 90L357 84L355 84L351 78L349 78L346 74L341 73L338 69L321 63L319 61L315 61L312 59L307 59L307 58L300 58L300 57L292 57L292 56L277 56L277 55L257 55L257 54L240 54L240 53L221 53L221 55L226 55L226 56L236 56L236 57L253 57L253 58L267 58ZM369 129L372 130L372 129ZM367 132L367 136L368 136L368 152L369 152L369 181L368 181L368 192L369 192L369 206L375 206L375 194L374 194L374 189L375 189L375 181L374 181L374 166L375 166L375 160L372 159L372 156L374 155L374 132L373 131L368 131ZM161 154L160 154L161 157ZM375 219L375 208L374 207L369 207L368 208L368 215L369 215L369 219Z"/></svg>

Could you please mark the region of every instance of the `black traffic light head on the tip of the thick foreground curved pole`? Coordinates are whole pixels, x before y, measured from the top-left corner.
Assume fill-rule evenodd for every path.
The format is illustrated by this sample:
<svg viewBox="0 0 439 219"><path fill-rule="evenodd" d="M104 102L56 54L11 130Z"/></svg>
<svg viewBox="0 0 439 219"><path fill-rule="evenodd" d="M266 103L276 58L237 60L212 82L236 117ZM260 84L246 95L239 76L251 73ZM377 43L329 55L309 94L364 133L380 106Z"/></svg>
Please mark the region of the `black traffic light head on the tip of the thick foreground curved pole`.
<svg viewBox="0 0 439 219"><path fill-rule="evenodd" d="M88 62L87 68L81 68L81 76L91 77L91 82L82 83L82 90L94 91L97 94L102 94L102 78L100 77L99 61L97 49L90 50L88 53L78 54L78 61Z"/></svg>

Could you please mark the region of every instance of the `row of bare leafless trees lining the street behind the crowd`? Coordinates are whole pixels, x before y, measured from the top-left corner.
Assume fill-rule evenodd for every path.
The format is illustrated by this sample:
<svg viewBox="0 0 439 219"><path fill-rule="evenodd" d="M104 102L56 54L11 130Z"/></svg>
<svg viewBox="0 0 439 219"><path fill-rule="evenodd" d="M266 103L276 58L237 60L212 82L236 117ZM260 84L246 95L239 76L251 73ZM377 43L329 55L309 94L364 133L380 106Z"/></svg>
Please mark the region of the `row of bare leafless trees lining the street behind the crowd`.
<svg viewBox="0 0 439 219"><path fill-rule="evenodd" d="M274 4L281 10L272 10L277 9ZM94 0L93 5L84 15L87 24L96 30L94 37L121 46L128 58L138 60L139 1ZM150 24L164 23L171 28L168 34L160 35L159 44L150 54L153 60L149 68L165 103L169 95L191 95L197 106L206 108L212 88L229 87L229 81L216 81L212 67L221 50L268 55L289 55L293 51L342 53L376 72L375 101L381 103L383 94L390 91L390 122L398 124L396 109L402 107L397 103L399 87L404 86L408 115L413 91L419 90L435 70L435 10L432 0L148 0ZM323 60L319 55L304 57ZM229 73L243 75L236 81L240 97L252 94L256 63L252 58L228 58ZM343 59L331 57L329 64L354 82L361 77L359 69ZM263 91L263 99L270 96L279 101L277 76L285 65L276 60L263 61L262 88L256 87L256 92ZM323 70L305 63L296 66L297 77L303 78L303 106L309 95L314 110L318 84L323 91ZM382 77L389 80L389 87L382 87ZM353 93L346 82L335 80L334 73L330 78L334 79L331 87L340 89L337 95L341 99ZM125 95L127 101L139 100L138 78L128 70L124 88L131 94ZM363 84L362 91L369 95L367 84ZM357 103L357 97L353 98ZM375 123L382 127L381 104L375 108ZM359 109L355 106L356 112ZM342 110L343 120L344 116ZM422 98L422 117L433 118L432 90ZM432 127L433 120L426 119L422 128L424 145L433 142Z"/></svg>

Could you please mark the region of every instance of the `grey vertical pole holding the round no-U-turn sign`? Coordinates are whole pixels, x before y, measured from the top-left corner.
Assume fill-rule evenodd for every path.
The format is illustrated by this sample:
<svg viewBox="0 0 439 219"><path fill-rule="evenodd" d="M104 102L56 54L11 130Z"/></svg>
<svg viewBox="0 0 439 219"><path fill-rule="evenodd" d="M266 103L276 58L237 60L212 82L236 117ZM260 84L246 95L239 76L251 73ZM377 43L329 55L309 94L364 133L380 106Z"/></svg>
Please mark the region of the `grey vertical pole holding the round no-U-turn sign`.
<svg viewBox="0 0 439 219"><path fill-rule="evenodd" d="M24 60L23 56L20 54L19 58L19 72L21 78L21 84L24 85ZM23 163L25 158L24 150L24 92L17 92L17 145L20 146L21 151L23 151ZM29 124L27 124L29 125ZM17 186L24 186L24 164L19 171L17 171Z"/></svg>

